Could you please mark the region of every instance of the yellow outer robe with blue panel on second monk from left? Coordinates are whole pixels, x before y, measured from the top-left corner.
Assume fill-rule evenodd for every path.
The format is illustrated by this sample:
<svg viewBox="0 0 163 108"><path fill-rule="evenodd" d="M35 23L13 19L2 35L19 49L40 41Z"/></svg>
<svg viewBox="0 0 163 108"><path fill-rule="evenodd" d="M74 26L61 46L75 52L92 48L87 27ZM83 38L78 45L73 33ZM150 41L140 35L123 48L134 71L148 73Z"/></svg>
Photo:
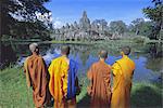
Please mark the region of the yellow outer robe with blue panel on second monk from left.
<svg viewBox="0 0 163 108"><path fill-rule="evenodd" d="M76 93L75 80L77 79L77 65L74 60L66 62L65 56L52 60L50 67L50 93L55 102L61 103L63 98L74 98Z"/></svg>

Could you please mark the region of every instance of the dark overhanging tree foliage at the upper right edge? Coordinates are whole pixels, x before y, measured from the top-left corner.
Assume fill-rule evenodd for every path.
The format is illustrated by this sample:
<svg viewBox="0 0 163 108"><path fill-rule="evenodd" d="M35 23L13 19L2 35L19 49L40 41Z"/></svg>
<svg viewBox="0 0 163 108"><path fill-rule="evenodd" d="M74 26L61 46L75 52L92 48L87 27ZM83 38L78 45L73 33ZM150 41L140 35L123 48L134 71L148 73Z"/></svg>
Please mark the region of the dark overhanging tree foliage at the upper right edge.
<svg viewBox="0 0 163 108"><path fill-rule="evenodd" d="M142 11L146 17L154 22L153 25L153 38L163 39L161 32L163 32L163 3L162 0L152 0L154 6L145 8Z"/></svg>

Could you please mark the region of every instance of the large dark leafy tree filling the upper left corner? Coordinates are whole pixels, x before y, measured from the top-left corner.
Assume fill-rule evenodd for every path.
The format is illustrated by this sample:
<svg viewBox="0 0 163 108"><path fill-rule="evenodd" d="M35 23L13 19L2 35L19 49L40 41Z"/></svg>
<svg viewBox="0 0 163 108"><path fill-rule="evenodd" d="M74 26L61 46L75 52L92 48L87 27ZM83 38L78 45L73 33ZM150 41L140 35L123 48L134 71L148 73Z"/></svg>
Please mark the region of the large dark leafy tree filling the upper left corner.
<svg viewBox="0 0 163 108"><path fill-rule="evenodd" d="M10 35L13 38L32 38L35 35L49 32L37 13L50 11L43 6L49 0L2 0L1 1L1 36ZM50 24L49 24L50 26ZM39 30L39 31L38 31Z"/></svg>

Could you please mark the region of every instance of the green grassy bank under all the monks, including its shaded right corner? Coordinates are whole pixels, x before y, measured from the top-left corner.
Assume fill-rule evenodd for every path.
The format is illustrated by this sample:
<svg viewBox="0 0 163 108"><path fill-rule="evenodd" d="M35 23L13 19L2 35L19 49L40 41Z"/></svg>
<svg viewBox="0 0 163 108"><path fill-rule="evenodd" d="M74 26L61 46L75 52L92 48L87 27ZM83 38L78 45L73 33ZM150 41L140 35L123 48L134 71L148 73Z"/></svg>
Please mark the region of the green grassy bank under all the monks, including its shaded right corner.
<svg viewBox="0 0 163 108"><path fill-rule="evenodd" d="M79 75L83 83L82 93L77 96L78 107L89 106L87 95L88 80ZM131 89L133 108L161 108L163 87L161 84L135 82ZM26 86L22 68L9 67L0 71L0 108L34 108L32 90Z"/></svg>

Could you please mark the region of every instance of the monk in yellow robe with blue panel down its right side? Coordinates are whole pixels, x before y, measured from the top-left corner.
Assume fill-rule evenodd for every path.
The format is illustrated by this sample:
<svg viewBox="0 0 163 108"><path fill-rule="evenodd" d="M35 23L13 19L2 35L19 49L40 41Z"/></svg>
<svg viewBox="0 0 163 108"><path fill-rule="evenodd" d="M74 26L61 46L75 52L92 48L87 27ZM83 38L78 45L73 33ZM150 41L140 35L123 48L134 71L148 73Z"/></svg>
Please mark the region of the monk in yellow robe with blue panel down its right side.
<svg viewBox="0 0 163 108"><path fill-rule="evenodd" d="M49 67L49 90L54 98L54 108L75 108L78 90L77 65L68 58L70 46L63 45L61 54Z"/></svg>

